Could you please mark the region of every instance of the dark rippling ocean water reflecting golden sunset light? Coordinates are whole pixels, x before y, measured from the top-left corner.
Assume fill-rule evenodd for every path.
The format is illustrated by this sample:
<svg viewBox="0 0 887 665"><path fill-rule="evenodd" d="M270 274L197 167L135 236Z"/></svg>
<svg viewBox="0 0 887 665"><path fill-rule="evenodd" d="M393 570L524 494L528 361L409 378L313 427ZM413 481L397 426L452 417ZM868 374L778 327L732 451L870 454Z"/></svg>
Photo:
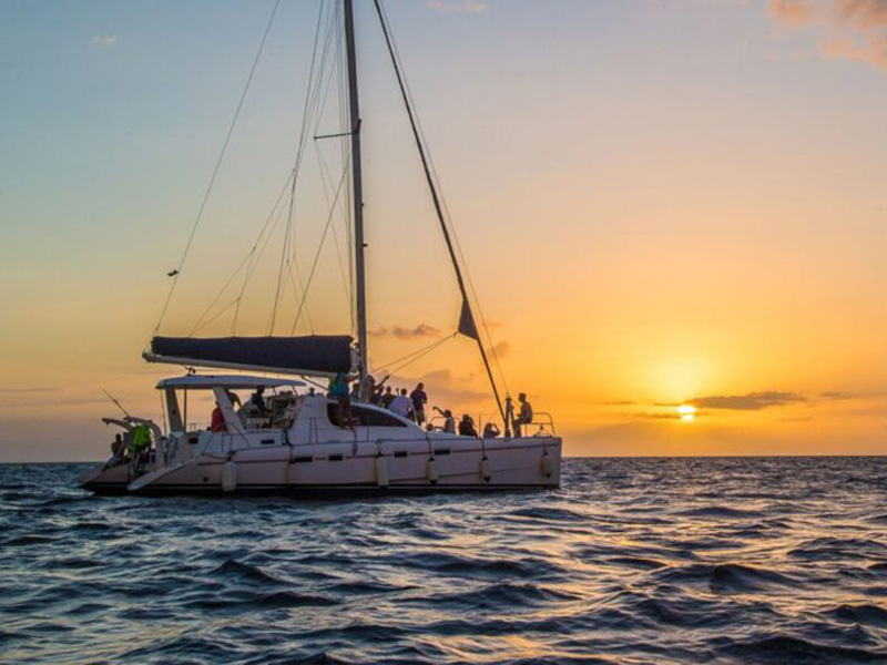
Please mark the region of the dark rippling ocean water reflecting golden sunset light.
<svg viewBox="0 0 887 665"><path fill-rule="evenodd" d="M570 459L559 491L93 497L0 466L4 663L887 663L887 459Z"/></svg>

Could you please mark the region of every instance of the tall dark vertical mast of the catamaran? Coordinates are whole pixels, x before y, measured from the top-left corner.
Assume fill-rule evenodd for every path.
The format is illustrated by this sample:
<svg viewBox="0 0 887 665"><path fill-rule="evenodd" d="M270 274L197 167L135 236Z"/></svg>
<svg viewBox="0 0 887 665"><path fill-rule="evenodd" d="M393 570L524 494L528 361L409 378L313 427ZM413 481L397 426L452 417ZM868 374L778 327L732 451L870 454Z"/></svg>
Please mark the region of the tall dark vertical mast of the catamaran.
<svg viewBox="0 0 887 665"><path fill-rule="evenodd" d="M357 50L354 39L354 7L343 0L345 47L348 53L348 124L351 134L351 187L354 198L355 288L357 289L357 348L360 379L367 376L367 295L364 267L364 181L360 173L360 102L357 95Z"/></svg>

